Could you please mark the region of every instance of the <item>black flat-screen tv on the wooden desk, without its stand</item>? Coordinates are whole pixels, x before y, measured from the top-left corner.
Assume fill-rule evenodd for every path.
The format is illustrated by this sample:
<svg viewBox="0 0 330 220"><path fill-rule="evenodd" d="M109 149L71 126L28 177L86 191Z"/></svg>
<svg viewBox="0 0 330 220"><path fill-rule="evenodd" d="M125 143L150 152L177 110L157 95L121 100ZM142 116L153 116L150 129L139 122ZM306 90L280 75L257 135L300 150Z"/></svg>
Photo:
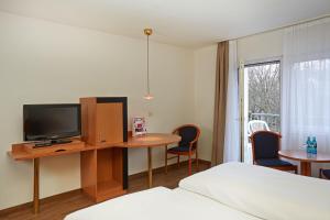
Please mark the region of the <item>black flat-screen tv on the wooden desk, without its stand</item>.
<svg viewBox="0 0 330 220"><path fill-rule="evenodd" d="M24 141L80 135L80 105L24 105Z"/></svg>

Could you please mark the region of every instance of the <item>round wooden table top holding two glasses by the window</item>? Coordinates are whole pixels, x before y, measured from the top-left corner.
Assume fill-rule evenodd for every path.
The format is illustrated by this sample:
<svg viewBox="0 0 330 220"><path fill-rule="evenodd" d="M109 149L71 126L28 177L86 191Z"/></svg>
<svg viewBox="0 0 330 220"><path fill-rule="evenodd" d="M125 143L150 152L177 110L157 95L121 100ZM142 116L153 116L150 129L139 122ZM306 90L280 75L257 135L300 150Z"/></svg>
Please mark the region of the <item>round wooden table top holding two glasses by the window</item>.
<svg viewBox="0 0 330 220"><path fill-rule="evenodd" d="M302 150L283 150L278 152L278 155L300 162L330 163L330 154L322 152L318 152L317 154L307 154L307 152Z"/></svg>

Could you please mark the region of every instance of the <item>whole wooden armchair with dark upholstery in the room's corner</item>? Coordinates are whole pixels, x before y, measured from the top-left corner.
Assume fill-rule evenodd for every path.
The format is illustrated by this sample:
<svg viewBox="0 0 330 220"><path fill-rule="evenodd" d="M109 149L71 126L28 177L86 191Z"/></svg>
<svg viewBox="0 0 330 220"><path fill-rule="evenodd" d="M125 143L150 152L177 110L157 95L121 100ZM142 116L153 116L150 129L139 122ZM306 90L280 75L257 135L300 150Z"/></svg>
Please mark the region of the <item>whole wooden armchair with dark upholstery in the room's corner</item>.
<svg viewBox="0 0 330 220"><path fill-rule="evenodd" d="M177 166L179 167L180 156L188 156L188 173L191 175L191 156L196 154L196 165L198 169L198 139L200 135L200 129L194 124L185 124L173 131L174 134L178 134L182 141L177 146L167 148L165 147L165 173L167 173L167 161L177 157ZM176 156L167 157L167 154L174 154Z"/></svg>

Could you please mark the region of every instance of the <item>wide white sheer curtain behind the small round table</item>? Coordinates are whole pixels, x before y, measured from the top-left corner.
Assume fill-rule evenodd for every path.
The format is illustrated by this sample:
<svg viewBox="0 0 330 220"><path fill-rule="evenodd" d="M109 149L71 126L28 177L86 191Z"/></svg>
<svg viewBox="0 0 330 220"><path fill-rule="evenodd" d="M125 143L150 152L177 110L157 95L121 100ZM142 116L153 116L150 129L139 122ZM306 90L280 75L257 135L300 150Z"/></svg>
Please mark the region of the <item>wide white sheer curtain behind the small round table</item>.
<svg viewBox="0 0 330 220"><path fill-rule="evenodd" d="M330 152L330 20L285 30L282 148L299 148L308 135Z"/></svg>

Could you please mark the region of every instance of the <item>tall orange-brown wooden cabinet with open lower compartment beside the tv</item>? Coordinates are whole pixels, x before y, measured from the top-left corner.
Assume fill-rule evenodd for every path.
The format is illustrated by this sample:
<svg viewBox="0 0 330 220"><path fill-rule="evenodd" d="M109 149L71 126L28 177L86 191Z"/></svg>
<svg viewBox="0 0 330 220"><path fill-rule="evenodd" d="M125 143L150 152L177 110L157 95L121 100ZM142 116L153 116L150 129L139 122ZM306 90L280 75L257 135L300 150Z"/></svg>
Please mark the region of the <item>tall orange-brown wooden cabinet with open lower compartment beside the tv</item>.
<svg viewBox="0 0 330 220"><path fill-rule="evenodd" d="M81 153L81 187L95 201L127 193L127 98L81 98L82 140L95 146Z"/></svg>

